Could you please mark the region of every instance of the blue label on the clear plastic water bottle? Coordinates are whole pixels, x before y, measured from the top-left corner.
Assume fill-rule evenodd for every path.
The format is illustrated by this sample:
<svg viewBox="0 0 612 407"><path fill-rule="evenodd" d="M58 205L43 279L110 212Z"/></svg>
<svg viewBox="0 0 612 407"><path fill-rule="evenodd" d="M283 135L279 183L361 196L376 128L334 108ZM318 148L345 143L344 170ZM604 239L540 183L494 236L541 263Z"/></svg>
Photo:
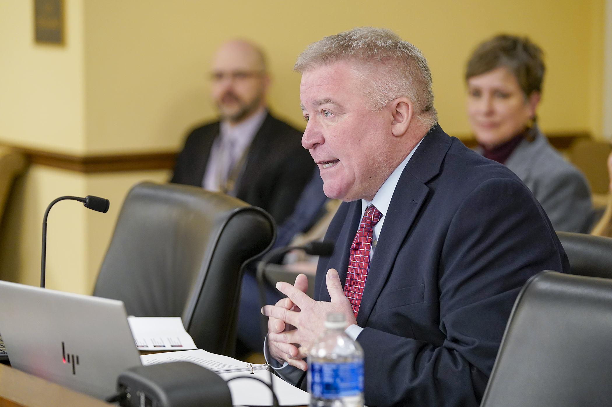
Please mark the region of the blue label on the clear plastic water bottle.
<svg viewBox="0 0 612 407"><path fill-rule="evenodd" d="M308 375L313 397L338 398L364 392L364 361L312 362Z"/></svg>

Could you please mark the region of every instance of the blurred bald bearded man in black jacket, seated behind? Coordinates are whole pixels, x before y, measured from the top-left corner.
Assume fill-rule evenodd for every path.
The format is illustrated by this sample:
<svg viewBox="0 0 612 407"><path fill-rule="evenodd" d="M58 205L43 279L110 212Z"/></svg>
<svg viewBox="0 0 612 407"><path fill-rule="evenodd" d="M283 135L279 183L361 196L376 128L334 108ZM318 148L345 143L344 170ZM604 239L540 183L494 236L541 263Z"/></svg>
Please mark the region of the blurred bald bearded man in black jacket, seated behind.
<svg viewBox="0 0 612 407"><path fill-rule="evenodd" d="M312 176L302 133L266 107L270 76L263 51L245 40L220 46L212 63L211 97L220 121L193 130L171 182L220 191L263 208L282 223Z"/></svg>

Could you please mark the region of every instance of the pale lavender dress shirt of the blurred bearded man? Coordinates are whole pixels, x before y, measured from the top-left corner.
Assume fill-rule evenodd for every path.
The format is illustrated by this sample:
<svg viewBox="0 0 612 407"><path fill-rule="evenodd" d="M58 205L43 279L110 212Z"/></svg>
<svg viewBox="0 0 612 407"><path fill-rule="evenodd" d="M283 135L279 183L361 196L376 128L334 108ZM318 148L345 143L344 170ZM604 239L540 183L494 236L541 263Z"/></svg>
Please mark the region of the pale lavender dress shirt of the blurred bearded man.
<svg viewBox="0 0 612 407"><path fill-rule="evenodd" d="M202 186L209 191L221 191L230 172L251 145L255 134L266 120L267 110L260 108L251 117L237 125L223 120L220 135L212 144L211 153L204 171Z"/></svg>

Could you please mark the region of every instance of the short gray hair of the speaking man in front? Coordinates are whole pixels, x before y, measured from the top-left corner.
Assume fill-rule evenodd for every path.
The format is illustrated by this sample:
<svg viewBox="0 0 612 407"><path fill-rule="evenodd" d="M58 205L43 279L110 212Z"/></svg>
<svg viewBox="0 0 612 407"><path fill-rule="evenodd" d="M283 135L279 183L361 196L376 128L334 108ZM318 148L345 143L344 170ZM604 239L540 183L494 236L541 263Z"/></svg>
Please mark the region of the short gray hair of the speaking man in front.
<svg viewBox="0 0 612 407"><path fill-rule="evenodd" d="M385 28L360 27L329 35L312 43L297 57L299 73L346 60L362 79L363 92L379 110L399 97L412 101L416 117L433 127L438 114L433 107L431 72L419 48ZM365 79L365 80L363 80Z"/></svg>

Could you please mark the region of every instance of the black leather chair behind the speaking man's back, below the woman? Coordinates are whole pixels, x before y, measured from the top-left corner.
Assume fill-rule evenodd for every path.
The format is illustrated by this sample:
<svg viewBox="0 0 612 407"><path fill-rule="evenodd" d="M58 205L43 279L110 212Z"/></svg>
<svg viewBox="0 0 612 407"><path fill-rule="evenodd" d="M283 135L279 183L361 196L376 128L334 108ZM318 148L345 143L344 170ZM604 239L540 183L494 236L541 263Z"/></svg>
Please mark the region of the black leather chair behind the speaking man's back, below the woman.
<svg viewBox="0 0 612 407"><path fill-rule="evenodd" d="M612 238L557 232L572 274L612 279Z"/></svg>

